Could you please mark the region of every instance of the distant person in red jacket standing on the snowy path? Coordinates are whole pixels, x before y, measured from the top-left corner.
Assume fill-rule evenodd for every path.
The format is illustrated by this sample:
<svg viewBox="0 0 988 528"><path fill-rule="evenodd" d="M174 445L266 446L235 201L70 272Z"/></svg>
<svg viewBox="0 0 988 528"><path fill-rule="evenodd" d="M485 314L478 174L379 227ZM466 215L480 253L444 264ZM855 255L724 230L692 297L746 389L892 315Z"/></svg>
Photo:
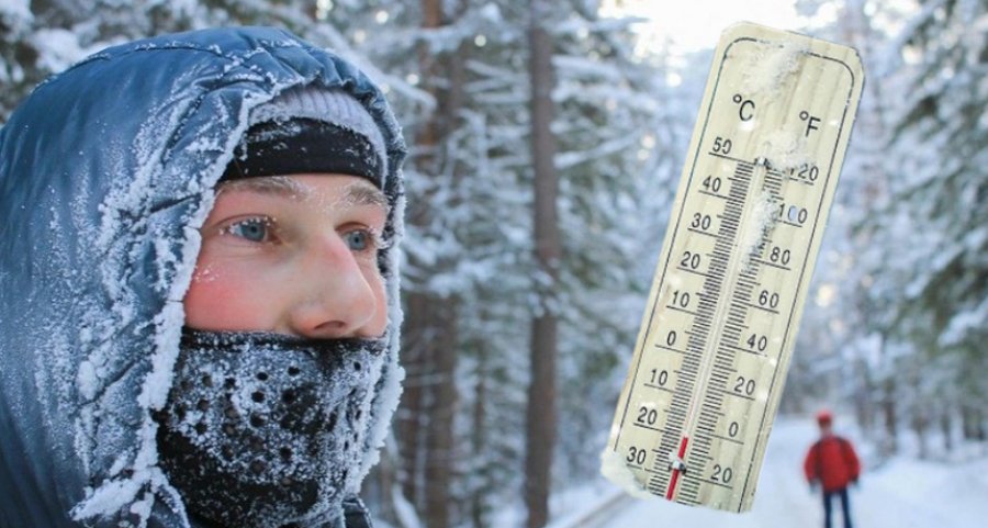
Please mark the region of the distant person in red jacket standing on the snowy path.
<svg viewBox="0 0 988 528"><path fill-rule="evenodd" d="M861 463L851 442L833 434L833 415L829 411L819 412L817 423L820 425L820 439L806 453L802 470L811 488L819 484L823 490L823 526L830 528L831 499L840 496L844 528L851 528L847 486L857 483Z"/></svg>

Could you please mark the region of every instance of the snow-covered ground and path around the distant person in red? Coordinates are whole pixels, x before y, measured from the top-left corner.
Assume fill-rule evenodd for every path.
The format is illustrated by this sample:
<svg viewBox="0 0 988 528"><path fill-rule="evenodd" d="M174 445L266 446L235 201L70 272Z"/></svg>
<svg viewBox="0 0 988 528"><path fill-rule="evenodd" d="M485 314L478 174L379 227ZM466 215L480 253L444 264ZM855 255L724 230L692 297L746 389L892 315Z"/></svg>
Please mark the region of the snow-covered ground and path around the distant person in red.
<svg viewBox="0 0 988 528"><path fill-rule="evenodd" d="M840 427L838 427L838 432ZM770 439L754 506L746 514L693 508L665 501L636 501L613 486L593 483L554 504L551 528L658 528L663 526L730 528L802 528L823 526L819 495L802 478L802 457L815 440L810 420L781 418ZM850 436L852 439L853 435ZM966 462L923 462L908 458L868 460L851 488L856 528L976 528L988 526L988 457ZM869 468L869 464L872 465ZM603 518L587 519L596 505L611 503ZM837 506L838 504L835 504ZM838 508L839 509L839 508ZM841 527L834 512L834 527ZM980 519L980 520L978 520Z"/></svg>

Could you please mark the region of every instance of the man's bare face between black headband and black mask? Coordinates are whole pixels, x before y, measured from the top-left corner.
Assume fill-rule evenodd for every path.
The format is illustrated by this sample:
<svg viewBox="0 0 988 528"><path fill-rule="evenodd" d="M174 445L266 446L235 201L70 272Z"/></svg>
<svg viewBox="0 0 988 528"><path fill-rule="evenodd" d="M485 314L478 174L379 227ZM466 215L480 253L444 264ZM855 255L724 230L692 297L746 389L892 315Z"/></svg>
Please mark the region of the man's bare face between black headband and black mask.
<svg viewBox="0 0 988 528"><path fill-rule="evenodd" d="M201 330L308 338L380 337L388 325L378 268L388 217L363 178L300 175L221 186L183 301Z"/></svg>

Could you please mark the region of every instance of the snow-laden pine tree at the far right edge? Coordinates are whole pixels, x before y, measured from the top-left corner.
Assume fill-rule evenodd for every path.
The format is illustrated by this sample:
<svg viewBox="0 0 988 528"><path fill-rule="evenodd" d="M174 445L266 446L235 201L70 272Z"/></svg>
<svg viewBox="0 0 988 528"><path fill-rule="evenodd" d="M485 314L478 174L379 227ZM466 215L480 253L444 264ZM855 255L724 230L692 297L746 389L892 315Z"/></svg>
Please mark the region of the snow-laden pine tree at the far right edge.
<svg viewBox="0 0 988 528"><path fill-rule="evenodd" d="M896 336L919 351L911 362L922 395L984 405L988 383L988 3L921 3L901 35L906 105L890 154L898 268L908 277L891 314ZM908 228L909 232L905 229ZM916 363L922 363L922 367ZM958 389L959 391L953 391ZM914 405L919 405L918 403ZM922 428L923 408L914 408Z"/></svg>

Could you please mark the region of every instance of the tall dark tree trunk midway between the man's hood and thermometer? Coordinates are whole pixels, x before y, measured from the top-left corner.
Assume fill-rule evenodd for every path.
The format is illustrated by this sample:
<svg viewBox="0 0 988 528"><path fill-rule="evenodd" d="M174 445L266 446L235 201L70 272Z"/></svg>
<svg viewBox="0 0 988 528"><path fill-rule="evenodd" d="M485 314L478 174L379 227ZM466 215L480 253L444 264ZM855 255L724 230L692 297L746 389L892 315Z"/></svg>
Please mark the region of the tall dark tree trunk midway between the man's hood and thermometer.
<svg viewBox="0 0 988 528"><path fill-rule="evenodd" d="M557 316L552 291L558 277L560 233L557 221L557 180L553 158L552 41L541 23L546 0L529 0L531 75L531 159L535 168L535 245L540 303L531 327L531 381L526 412L525 503L528 528L549 520L552 451L555 446Z"/></svg>

